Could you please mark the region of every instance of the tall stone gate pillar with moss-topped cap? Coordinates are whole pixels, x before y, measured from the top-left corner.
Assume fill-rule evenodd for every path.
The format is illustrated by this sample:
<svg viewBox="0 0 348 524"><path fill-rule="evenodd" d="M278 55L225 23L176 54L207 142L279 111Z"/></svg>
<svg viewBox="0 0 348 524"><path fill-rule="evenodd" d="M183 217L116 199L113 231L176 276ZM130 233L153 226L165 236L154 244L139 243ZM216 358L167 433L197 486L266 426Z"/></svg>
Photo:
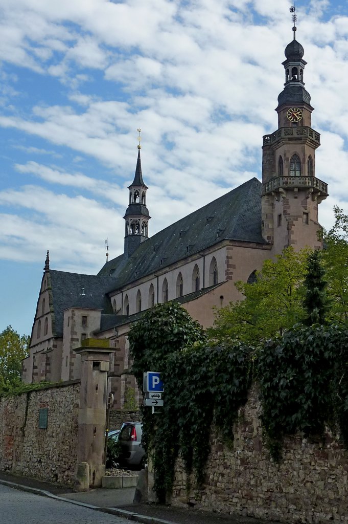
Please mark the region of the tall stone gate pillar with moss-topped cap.
<svg viewBox="0 0 348 524"><path fill-rule="evenodd" d="M76 489L84 490L101 486L105 474L107 372L114 350L108 340L86 339L74 351L81 355Z"/></svg>

